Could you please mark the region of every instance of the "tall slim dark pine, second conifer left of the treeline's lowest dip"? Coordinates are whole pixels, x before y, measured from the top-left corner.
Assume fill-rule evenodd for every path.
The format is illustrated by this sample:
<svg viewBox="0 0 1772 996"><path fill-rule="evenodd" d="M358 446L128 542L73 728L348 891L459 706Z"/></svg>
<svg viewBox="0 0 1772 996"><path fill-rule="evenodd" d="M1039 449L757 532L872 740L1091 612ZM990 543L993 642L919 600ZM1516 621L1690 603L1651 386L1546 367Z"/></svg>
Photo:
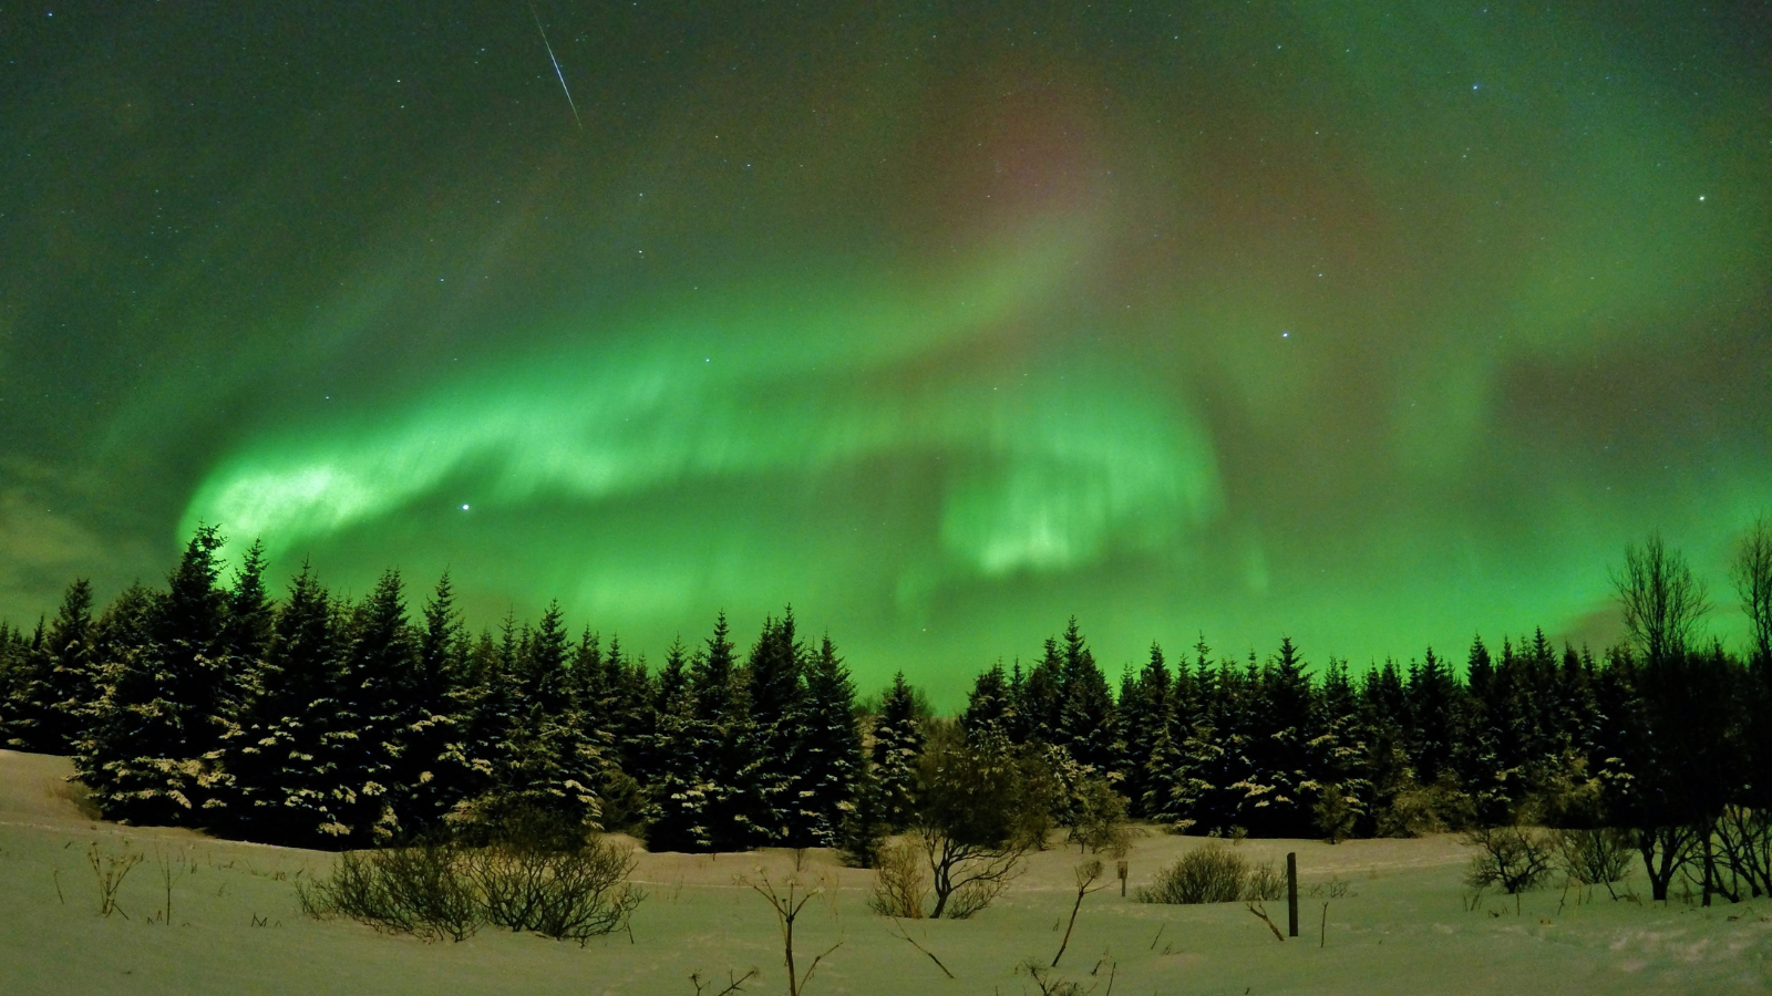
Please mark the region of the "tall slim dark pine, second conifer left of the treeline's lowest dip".
<svg viewBox="0 0 1772 996"><path fill-rule="evenodd" d="M803 714L799 824L812 847L836 847L843 821L856 812L863 759L856 686L829 634L808 661Z"/></svg>

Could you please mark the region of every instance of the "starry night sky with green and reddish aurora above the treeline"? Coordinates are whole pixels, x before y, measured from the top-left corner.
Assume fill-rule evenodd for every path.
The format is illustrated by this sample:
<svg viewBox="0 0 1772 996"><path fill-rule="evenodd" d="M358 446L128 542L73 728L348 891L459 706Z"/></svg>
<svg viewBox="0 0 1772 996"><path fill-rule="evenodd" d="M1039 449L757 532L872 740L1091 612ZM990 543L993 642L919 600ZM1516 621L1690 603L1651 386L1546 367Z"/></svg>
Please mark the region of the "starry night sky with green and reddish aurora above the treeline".
<svg viewBox="0 0 1772 996"><path fill-rule="evenodd" d="M12 622L206 521L654 659L792 603L948 705L1070 613L1109 673L1598 647L1652 528L1744 629L1765 4L7 4L0 55Z"/></svg>

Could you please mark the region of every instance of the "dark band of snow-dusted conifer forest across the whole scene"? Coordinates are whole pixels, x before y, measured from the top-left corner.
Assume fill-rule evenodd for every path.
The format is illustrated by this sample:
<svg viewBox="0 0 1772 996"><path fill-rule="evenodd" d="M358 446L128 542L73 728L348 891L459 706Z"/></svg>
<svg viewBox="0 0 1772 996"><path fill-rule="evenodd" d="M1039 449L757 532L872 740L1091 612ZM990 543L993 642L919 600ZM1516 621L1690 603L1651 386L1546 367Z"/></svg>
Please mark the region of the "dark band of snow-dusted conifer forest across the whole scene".
<svg viewBox="0 0 1772 996"><path fill-rule="evenodd" d="M0 743L71 755L106 819L360 849L539 812L650 851L865 867L943 819L980 847L1127 819L1331 842L1543 826L1618 835L1655 899L1682 875L1706 902L1772 893L1772 517L1731 565L1740 652L1703 636L1708 592L1652 535L1609 574L1627 638L1598 654L1536 631L1356 673L1290 638L1244 659L1201 640L1154 643L1115 688L1072 619L952 718L902 673L858 698L790 608L748 650L721 615L649 666L558 604L471 633L448 576L416 619L392 571L347 601L303 567L278 599L257 546L223 578L222 544L198 528L165 587L99 608L74 581L55 619L0 624Z"/></svg>

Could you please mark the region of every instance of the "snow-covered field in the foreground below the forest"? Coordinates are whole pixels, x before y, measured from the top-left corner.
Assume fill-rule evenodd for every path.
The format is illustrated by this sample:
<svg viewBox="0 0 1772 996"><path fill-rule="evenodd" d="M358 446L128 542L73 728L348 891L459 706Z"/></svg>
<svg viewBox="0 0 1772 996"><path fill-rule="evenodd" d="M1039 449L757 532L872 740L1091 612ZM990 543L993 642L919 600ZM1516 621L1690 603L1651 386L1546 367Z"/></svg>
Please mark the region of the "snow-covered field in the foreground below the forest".
<svg viewBox="0 0 1772 996"><path fill-rule="evenodd" d="M5 994L702 994L750 969L739 992L787 992L781 938L762 897L739 879L792 872L787 852L641 854L649 897L633 936L574 943L496 929L427 945L351 922L301 914L292 879L330 854L211 840L179 829L120 828L83 817L64 759L0 751L0 992ZM144 854L99 914L89 852ZM1150 835L1131 856L1136 888L1200 840ZM1494 895L1467 909L1464 845L1425 840L1249 840L1253 861L1299 854L1299 938L1276 941L1242 904L1146 906L1115 883L1083 900L1076 934L1044 984L1081 992L1767 992L1772 902L1701 909L1683 902L1591 902L1575 890ZM796 930L801 969L838 945L804 985L810 996L1037 994L1022 968L1049 966L1076 900L1076 847L1033 856L991 909L964 922L911 922L909 941L868 913L870 872L808 852L801 877L822 881ZM1111 863L1109 863L1111 867ZM165 920L170 875L170 922ZM1345 883L1338 886L1334 883ZM1646 891L1634 883L1637 891ZM1331 891L1343 891L1329 899ZM1310 895L1315 893L1315 895ZM1327 904L1327 909L1325 909ZM1269 902L1285 929L1285 900ZM712 985L709 985L712 984ZM1054 992L1058 989L1053 989Z"/></svg>

